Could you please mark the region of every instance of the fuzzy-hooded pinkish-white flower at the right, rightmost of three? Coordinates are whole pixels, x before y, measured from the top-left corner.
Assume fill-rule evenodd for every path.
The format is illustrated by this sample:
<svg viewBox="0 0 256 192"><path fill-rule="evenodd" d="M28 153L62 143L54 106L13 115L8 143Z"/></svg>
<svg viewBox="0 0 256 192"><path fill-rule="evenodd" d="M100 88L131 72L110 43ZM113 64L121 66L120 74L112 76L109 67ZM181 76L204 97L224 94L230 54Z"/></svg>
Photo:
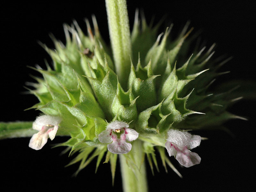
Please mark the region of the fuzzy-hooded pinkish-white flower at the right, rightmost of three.
<svg viewBox="0 0 256 192"><path fill-rule="evenodd" d="M201 157L197 153L188 150L200 145L200 136L173 129L170 129L167 134L165 148L169 156L175 156L177 161L185 167L191 167L201 162Z"/></svg>

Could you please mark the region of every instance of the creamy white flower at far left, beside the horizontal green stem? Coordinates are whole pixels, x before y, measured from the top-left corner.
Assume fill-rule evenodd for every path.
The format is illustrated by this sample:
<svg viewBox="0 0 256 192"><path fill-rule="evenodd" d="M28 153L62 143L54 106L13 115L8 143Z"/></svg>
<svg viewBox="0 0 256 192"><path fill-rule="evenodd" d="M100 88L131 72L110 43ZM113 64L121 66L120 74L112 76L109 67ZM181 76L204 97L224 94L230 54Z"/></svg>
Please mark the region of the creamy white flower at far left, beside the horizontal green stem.
<svg viewBox="0 0 256 192"><path fill-rule="evenodd" d="M35 133L31 137L28 146L36 150L43 148L48 138L51 140L54 139L60 121L60 117L57 116L42 115L36 117L32 128L37 130L38 133Z"/></svg>

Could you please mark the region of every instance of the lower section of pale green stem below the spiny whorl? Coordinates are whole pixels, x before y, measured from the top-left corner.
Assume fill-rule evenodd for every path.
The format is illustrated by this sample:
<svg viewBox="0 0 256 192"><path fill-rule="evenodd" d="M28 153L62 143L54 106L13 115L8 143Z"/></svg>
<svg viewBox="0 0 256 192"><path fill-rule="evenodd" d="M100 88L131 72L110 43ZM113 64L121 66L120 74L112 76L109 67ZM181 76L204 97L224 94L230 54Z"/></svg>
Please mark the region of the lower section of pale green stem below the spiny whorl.
<svg viewBox="0 0 256 192"><path fill-rule="evenodd" d="M129 157L132 164L128 166L125 155L120 155L121 174L124 192L147 192L147 172L142 151L142 141L135 140L132 142L132 150Z"/></svg>

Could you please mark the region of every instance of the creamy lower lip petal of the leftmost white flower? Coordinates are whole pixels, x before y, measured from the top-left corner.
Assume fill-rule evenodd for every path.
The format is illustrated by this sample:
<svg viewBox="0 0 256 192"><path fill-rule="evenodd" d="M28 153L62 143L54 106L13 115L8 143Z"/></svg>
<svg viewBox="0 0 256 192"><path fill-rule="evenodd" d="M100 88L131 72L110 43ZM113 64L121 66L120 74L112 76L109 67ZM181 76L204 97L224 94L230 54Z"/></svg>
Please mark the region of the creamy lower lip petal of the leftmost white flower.
<svg viewBox="0 0 256 192"><path fill-rule="evenodd" d="M44 145L47 143L48 134L42 133L39 131L38 133L34 134L28 144L28 147L39 150L44 147Z"/></svg>

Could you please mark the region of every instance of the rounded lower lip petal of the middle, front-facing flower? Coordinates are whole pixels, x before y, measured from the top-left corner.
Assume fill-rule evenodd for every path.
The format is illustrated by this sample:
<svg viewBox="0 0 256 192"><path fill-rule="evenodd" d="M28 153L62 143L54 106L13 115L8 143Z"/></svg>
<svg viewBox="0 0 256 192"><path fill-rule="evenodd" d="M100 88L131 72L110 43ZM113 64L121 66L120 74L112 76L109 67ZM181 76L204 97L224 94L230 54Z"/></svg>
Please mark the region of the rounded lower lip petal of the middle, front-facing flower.
<svg viewBox="0 0 256 192"><path fill-rule="evenodd" d="M132 144L131 143L126 143L125 141L122 140L115 140L113 143L108 144L108 150L111 153L115 154L125 154L131 151L132 149Z"/></svg>

